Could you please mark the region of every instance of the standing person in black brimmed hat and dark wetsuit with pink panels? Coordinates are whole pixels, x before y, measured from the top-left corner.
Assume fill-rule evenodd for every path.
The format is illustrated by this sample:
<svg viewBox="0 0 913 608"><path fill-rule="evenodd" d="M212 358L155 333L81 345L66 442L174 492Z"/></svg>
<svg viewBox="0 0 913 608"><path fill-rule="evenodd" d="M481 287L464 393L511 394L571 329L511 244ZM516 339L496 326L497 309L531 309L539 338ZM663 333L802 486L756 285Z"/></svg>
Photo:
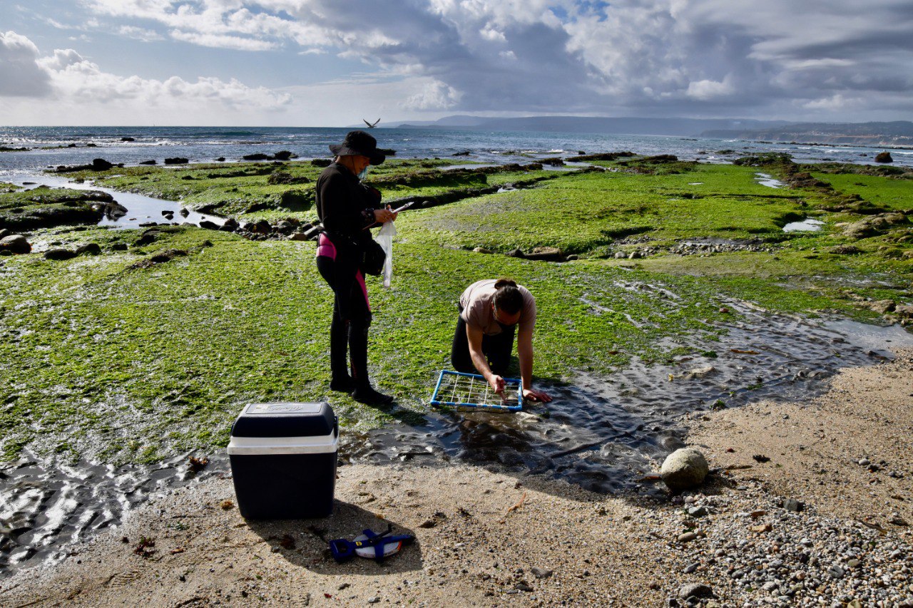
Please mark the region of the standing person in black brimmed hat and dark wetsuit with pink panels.
<svg viewBox="0 0 913 608"><path fill-rule="evenodd" d="M375 391L368 380L371 306L360 267L365 244L372 238L368 227L396 219L381 206L381 193L361 183L368 166L380 164L384 156L377 151L377 141L364 131L350 131L330 151L336 158L320 173L316 189L317 215L324 227L317 269L333 290L330 388L352 393L362 404L389 404L394 398ZM351 366L346 365L347 350Z"/></svg>

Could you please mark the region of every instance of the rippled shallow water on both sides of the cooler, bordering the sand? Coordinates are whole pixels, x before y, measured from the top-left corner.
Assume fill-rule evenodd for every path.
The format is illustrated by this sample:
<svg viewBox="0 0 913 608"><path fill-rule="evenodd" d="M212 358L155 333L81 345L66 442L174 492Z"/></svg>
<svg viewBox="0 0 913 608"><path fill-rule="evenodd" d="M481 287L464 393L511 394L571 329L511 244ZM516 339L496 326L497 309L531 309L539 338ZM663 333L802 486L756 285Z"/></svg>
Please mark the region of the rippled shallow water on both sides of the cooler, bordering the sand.
<svg viewBox="0 0 913 608"><path fill-rule="evenodd" d="M826 379L841 367L889 359L891 347L913 347L913 334L897 326L771 315L737 302L728 306L743 320L727 325L728 335L719 341L702 345L704 355L652 365L635 359L605 378L580 372L567 385L543 387L554 397L551 404L528 404L517 414L438 411L424 425L391 425L365 435L343 431L341 459L499 463L597 492L664 496L662 484L644 477L683 445L684 414L708 411L718 400L733 407L761 399L807 399L822 393ZM429 371L429 382L432 375ZM429 387L425 399L430 394ZM70 545L117 525L128 509L228 471L227 456L216 454L194 474L188 456L115 468L48 465L24 452L0 468L0 578L63 560Z"/></svg>

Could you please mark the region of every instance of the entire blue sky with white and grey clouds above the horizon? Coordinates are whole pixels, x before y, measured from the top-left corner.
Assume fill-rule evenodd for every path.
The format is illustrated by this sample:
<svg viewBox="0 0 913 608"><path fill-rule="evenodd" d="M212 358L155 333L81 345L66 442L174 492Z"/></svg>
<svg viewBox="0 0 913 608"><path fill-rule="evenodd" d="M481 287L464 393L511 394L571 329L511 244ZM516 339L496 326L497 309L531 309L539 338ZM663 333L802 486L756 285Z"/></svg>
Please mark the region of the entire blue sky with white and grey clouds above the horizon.
<svg viewBox="0 0 913 608"><path fill-rule="evenodd" d="M911 32L911 0L0 0L0 124L913 120Z"/></svg>

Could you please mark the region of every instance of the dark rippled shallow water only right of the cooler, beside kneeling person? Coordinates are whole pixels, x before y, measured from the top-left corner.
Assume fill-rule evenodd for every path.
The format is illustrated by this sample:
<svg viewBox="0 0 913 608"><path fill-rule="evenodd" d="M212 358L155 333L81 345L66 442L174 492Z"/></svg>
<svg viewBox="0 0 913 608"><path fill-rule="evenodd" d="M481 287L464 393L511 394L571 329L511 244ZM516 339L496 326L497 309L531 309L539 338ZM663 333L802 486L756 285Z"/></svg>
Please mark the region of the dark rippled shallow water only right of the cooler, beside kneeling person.
<svg viewBox="0 0 913 608"><path fill-rule="evenodd" d="M555 399L547 406L528 404L522 414L433 414L425 427L383 428L353 439L347 451L378 463L427 455L498 462L597 492L662 495L661 484L641 479L682 446L683 414L708 411L718 400L733 407L805 399L822 393L824 381L841 367L889 359L890 347L913 347L913 334L899 326L805 320L735 303L730 308L746 320L706 345L716 357L655 365L635 359L604 379L579 373L569 385L551 387ZM707 367L712 370L704 372ZM531 415L546 411L549 417Z"/></svg>

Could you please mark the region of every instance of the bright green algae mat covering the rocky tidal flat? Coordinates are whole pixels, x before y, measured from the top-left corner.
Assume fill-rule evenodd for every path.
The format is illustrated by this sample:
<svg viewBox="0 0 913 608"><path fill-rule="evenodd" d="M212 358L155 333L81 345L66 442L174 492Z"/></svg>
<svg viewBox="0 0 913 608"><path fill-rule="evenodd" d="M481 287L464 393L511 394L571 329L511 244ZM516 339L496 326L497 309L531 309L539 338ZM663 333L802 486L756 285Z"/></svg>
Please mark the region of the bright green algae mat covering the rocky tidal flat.
<svg viewBox="0 0 913 608"><path fill-rule="evenodd" d="M868 320L877 318L868 306L874 300L902 309L913 299L908 221L850 238L842 225L873 215L827 210L837 192L903 218L913 209L906 178L814 173L831 184L825 193L758 183L755 173L778 176L780 167L635 160L603 162L604 173L533 167L448 176L436 174L441 164L391 163L371 178L387 200L446 194L455 201L401 215L393 288L369 280L373 381L395 394L394 406L373 408L329 391L331 291L314 267L312 243L173 227L136 247L136 230L38 229L30 240L39 248L92 242L103 253L67 261L0 257L3 457L24 446L111 462L212 451L226 445L232 420L251 401L326 399L350 431L421 424L436 370L449 362L456 300L479 278L510 276L536 296L535 376L551 383L579 372L607 375L633 357L661 362L706 352L722 324L738 320L727 307L731 299ZM290 178L276 178L268 164L128 168L91 177L189 206L217 204L239 219L310 219L310 208L285 207L282 196L307 192L306 180L319 171L287 163L282 172ZM474 194L516 182L532 187ZM23 196L0 193L0 209L25 204ZM823 221L823 230L783 232L804 217ZM701 255L668 251L708 239L736 246ZM740 248L745 243L764 250ZM500 255L537 246L579 258L556 264ZM645 248L649 253L627 258ZM186 255L148 262L166 250Z"/></svg>

